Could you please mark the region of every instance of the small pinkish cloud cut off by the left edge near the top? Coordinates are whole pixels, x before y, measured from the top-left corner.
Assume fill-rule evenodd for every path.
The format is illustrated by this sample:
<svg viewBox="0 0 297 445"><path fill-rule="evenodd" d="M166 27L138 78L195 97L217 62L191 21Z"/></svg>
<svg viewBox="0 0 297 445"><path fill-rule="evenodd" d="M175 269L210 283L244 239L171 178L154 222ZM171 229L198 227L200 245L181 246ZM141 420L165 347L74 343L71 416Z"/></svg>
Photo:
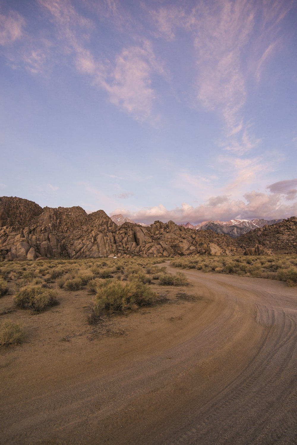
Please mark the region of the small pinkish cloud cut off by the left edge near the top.
<svg viewBox="0 0 297 445"><path fill-rule="evenodd" d="M9 45L20 39L24 25L24 18L16 11L10 11L6 16L0 14L0 45Z"/></svg>

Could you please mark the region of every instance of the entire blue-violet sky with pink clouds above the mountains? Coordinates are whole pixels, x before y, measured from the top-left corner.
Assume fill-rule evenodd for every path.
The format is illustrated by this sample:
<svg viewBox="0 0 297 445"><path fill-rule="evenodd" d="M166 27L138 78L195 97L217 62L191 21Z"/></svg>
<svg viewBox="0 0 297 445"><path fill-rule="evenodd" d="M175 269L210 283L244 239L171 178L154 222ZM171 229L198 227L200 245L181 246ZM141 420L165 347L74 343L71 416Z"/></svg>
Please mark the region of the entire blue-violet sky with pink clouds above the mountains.
<svg viewBox="0 0 297 445"><path fill-rule="evenodd" d="M297 216L296 0L0 0L0 195Z"/></svg>

